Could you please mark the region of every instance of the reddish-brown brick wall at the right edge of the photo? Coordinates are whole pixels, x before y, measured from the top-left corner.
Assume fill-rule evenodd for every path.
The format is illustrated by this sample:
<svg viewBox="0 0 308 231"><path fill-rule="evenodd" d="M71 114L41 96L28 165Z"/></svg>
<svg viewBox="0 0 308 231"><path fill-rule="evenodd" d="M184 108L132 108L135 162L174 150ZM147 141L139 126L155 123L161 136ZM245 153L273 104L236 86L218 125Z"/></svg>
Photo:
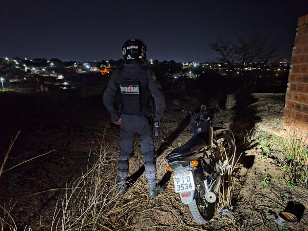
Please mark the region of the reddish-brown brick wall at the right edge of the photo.
<svg viewBox="0 0 308 231"><path fill-rule="evenodd" d="M283 111L285 124L308 133L308 14L298 18Z"/></svg>

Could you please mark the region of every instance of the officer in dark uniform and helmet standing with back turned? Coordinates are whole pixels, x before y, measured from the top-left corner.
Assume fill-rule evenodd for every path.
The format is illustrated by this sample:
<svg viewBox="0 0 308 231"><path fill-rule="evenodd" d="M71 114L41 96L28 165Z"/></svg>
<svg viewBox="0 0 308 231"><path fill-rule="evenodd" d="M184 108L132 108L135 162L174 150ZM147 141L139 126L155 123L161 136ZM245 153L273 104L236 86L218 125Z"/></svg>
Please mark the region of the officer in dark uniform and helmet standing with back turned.
<svg viewBox="0 0 308 231"><path fill-rule="evenodd" d="M144 158L146 179L151 198L158 195L156 184L156 152L152 125L159 127L165 108L162 88L155 74L146 62L146 45L137 39L128 40L122 47L125 64L114 70L108 87L104 92L103 102L111 115L113 123L120 125L119 154L119 194L124 194L128 175L128 160L133 150L134 136L138 134ZM114 109L114 98L121 95L121 114ZM151 110L151 99L155 103L155 113Z"/></svg>

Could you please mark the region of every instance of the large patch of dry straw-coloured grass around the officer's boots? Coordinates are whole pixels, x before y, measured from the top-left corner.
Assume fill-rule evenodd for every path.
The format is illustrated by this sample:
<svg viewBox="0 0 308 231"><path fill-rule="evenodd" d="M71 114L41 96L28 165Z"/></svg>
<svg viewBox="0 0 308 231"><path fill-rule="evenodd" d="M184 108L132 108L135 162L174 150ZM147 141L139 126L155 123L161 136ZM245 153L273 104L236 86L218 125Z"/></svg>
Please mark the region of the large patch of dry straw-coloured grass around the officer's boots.
<svg viewBox="0 0 308 231"><path fill-rule="evenodd" d="M80 178L67 185L70 189L57 202L48 229L202 230L202 226L192 219L188 206L181 203L172 183L155 199L149 199L146 181L137 181L124 196L118 195L118 161L114 154L104 142L99 149L90 151L89 160L95 157L94 164ZM236 164L234 157L232 162ZM232 170L229 169L230 175ZM229 207L232 189L227 188L226 191L227 194L221 195L217 208ZM218 212L210 228L233 230L236 227L234 221L221 217Z"/></svg>

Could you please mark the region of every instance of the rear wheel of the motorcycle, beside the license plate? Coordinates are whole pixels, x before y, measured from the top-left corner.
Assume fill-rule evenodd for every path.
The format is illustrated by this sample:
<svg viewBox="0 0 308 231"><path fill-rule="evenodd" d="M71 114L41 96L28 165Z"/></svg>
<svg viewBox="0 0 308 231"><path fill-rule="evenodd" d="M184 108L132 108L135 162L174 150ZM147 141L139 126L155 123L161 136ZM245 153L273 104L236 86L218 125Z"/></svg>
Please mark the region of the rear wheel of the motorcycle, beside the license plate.
<svg viewBox="0 0 308 231"><path fill-rule="evenodd" d="M197 222L206 224L214 216L215 203L209 203L203 197L205 186L200 176L195 178L195 187L195 199L188 204L188 207Z"/></svg>

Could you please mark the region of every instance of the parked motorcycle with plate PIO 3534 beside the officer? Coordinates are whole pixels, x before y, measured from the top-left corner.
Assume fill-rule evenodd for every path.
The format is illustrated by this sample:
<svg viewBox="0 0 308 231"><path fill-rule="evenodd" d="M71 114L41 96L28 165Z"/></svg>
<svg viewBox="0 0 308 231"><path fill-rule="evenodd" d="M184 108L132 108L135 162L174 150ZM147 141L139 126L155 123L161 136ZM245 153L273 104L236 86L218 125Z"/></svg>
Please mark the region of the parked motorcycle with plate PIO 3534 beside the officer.
<svg viewBox="0 0 308 231"><path fill-rule="evenodd" d="M227 129L211 123L205 105L195 112L178 100L174 104L190 114L192 137L166 156L167 170L173 173L175 191L188 205L192 217L206 224L214 216L223 176L232 168L228 158L235 152L235 143Z"/></svg>

